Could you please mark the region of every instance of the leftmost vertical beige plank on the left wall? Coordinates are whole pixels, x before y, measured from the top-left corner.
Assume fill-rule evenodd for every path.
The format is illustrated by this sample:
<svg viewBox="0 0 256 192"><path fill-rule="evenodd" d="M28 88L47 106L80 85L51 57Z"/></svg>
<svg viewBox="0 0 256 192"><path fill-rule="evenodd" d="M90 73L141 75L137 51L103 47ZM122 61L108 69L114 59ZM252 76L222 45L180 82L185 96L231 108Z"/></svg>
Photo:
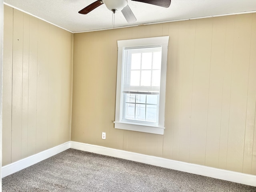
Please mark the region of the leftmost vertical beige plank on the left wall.
<svg viewBox="0 0 256 192"><path fill-rule="evenodd" d="M11 163L12 152L12 40L13 9L4 7L2 165Z"/></svg>

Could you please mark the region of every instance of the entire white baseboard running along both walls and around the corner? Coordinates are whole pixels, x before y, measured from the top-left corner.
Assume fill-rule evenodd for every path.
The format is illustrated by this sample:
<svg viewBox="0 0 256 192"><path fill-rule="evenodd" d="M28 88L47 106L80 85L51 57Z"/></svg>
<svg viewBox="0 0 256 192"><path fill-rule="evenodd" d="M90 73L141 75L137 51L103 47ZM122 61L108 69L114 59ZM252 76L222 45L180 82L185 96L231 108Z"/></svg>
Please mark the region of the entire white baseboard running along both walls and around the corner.
<svg viewBox="0 0 256 192"><path fill-rule="evenodd" d="M2 167L2 178L18 172L24 168L27 168L33 164L36 164L42 160L45 160L51 156L54 156L64 150L69 148L78 149L87 152L93 152L97 154L122 158L126 160L132 160L136 162L146 163L154 166L160 166L164 168L179 170L183 172L208 176L212 178L227 180L231 182L246 184L250 186L256 186L256 176L250 174L244 174L240 172L228 171L218 168L212 168L208 166L202 166L198 164L191 164L186 162L180 162L175 160L170 160L166 158L160 158L156 156L149 156L134 152L128 152L124 150L118 150L113 148L107 148L102 146L96 146L91 144L84 144L79 142L66 142L64 144L58 145L56 147L50 148L48 150L42 151L38 154L29 156L22 160L13 162Z"/></svg>

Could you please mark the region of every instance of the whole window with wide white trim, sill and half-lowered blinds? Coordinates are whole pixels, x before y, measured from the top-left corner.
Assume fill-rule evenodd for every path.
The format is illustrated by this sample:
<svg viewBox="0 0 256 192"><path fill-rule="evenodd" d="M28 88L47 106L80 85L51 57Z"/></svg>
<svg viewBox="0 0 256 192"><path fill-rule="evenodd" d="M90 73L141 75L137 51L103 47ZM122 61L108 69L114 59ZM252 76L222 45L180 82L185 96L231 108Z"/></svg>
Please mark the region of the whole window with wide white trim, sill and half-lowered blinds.
<svg viewBox="0 0 256 192"><path fill-rule="evenodd" d="M118 41L115 128L164 134L168 39Z"/></svg>

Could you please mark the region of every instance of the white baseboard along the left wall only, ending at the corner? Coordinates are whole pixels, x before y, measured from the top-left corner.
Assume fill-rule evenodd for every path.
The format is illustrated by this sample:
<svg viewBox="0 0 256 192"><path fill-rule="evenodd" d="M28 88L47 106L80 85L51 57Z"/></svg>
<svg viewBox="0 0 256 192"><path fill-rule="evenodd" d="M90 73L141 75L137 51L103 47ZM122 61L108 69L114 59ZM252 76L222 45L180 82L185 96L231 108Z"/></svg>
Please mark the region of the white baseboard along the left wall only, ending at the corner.
<svg viewBox="0 0 256 192"><path fill-rule="evenodd" d="M2 166L2 178L6 177L10 174L13 174L15 172L18 172L24 168L29 167L29 166L32 166L42 160L45 160L45 159L47 159L51 156L54 156L64 150L67 150L69 148L70 148L70 142L66 142L64 144L44 150L40 153L37 153L32 156L26 157L24 159L18 160L16 162L13 162L6 166Z"/></svg>

